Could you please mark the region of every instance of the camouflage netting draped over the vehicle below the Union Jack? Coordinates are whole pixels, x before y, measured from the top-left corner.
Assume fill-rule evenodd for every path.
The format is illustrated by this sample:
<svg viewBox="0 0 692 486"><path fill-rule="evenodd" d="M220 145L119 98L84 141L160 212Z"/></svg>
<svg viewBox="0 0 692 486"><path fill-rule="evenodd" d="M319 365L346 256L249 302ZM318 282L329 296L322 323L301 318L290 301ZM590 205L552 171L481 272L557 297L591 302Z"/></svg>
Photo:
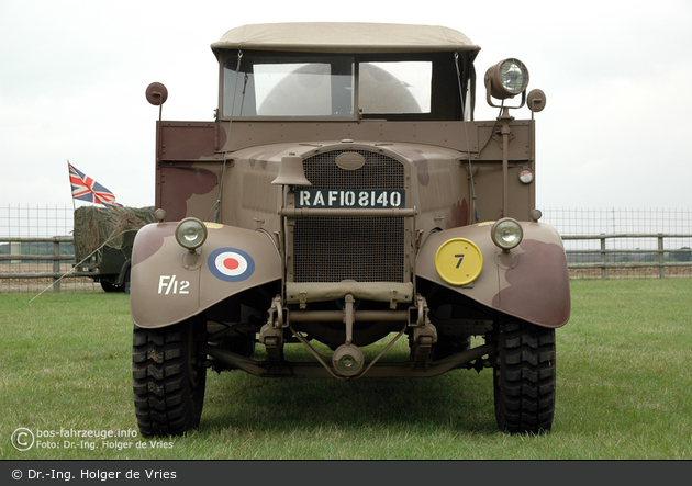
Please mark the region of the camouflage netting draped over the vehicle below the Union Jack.
<svg viewBox="0 0 692 486"><path fill-rule="evenodd" d="M80 261L101 246L131 246L137 230L154 223L154 207L97 207L75 210L75 258Z"/></svg>

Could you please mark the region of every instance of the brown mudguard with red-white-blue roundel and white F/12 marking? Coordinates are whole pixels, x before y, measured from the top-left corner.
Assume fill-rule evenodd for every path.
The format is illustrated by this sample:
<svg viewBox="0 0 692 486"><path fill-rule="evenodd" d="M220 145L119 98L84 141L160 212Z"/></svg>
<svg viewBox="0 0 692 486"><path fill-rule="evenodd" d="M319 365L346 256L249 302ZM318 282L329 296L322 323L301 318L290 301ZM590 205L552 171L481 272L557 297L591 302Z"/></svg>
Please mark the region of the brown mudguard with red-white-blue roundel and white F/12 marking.
<svg viewBox="0 0 692 486"><path fill-rule="evenodd" d="M144 226L134 240L130 309L136 326L170 326L281 279L281 260L269 235L205 223L204 245L190 252L176 241L177 225Z"/></svg>

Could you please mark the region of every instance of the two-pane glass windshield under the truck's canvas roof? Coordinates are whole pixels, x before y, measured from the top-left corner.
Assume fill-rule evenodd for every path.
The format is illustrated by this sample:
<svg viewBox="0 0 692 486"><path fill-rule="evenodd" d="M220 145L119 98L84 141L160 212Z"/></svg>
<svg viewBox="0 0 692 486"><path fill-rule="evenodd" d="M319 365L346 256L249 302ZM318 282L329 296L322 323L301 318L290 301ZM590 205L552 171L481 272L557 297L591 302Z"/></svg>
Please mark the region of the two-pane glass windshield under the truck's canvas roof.
<svg viewBox="0 0 692 486"><path fill-rule="evenodd" d="M237 56L228 56L223 70L223 116L353 118L355 113L431 112L432 61L357 66L356 72L356 61L348 56L244 55L239 63Z"/></svg>

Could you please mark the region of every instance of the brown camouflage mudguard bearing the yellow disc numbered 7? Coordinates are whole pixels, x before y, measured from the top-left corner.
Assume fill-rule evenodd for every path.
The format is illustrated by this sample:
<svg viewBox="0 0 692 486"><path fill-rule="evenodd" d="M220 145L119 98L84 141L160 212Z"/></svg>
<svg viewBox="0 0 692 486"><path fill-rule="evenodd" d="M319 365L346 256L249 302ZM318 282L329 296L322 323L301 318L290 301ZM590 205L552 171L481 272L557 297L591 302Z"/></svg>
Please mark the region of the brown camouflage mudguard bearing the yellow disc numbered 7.
<svg viewBox="0 0 692 486"><path fill-rule="evenodd" d="M416 259L417 276L451 289L473 301L542 327L557 328L569 320L569 272L562 239L549 225L520 222L524 239L509 253L500 250L490 238L494 222L479 223L434 233L425 240ZM469 283L440 275L460 264L462 247L455 255L438 251L448 241L465 244L466 252L479 252L464 269L464 275L478 276ZM473 245L468 245L467 241ZM440 256L448 260L440 261ZM437 259L437 264L436 264ZM439 267L439 271L438 271ZM450 270L459 272L460 270ZM453 280L454 283L449 281Z"/></svg>

